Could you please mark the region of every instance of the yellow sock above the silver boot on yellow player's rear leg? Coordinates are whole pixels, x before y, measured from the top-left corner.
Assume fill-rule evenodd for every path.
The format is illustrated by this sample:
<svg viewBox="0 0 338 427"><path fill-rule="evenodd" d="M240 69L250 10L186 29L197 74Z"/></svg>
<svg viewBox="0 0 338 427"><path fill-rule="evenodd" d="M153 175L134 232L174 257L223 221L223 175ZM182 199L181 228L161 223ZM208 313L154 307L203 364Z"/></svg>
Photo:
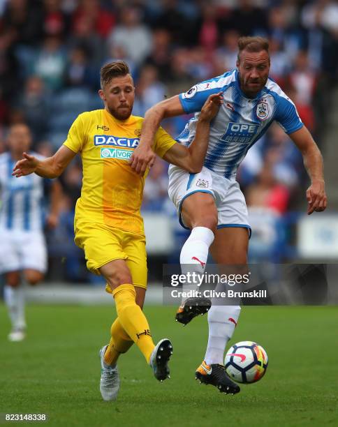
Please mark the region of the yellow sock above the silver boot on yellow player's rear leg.
<svg viewBox="0 0 338 427"><path fill-rule="evenodd" d="M110 334L112 338L110 338L110 343L107 350L105 350L104 358L106 364L114 365L117 359L119 359L119 355L126 353L134 342L122 328L122 324L118 317L110 328Z"/></svg>

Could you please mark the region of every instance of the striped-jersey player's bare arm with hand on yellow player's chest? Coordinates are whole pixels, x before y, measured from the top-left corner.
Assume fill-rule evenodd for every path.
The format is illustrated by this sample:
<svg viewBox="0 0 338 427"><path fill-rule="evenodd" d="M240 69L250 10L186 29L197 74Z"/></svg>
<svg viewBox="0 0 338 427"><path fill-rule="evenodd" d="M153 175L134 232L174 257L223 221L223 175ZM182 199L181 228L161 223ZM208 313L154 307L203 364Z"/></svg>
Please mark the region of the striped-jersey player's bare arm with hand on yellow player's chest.
<svg viewBox="0 0 338 427"><path fill-rule="evenodd" d="M159 129L160 123L167 117L175 117L184 114L179 96L172 96L154 105L145 113L145 119L142 123L140 144L134 150L129 163L133 170L143 175L147 167L154 165L156 154L152 151L154 136Z"/></svg>

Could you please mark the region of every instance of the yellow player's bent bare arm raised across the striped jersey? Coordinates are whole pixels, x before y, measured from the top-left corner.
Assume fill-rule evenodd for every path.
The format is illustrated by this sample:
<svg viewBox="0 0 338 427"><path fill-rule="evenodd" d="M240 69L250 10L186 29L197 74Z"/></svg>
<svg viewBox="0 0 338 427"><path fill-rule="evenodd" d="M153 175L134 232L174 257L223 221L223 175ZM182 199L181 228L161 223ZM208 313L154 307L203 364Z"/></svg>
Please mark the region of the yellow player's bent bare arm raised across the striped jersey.
<svg viewBox="0 0 338 427"><path fill-rule="evenodd" d="M189 147L175 144L163 156L164 160L177 165L190 173L196 174L202 170L207 146L209 144L210 121L214 119L223 102L222 93L210 95L200 111L196 126L196 135Z"/></svg>

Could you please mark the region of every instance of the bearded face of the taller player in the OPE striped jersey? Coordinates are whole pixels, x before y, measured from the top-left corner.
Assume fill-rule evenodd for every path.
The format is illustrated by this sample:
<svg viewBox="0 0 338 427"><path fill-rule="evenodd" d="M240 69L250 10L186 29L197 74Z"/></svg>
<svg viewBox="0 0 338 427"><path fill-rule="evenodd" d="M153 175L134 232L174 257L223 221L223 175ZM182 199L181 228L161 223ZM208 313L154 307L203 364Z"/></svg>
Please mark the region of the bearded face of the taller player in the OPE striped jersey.
<svg viewBox="0 0 338 427"><path fill-rule="evenodd" d="M265 87L270 70L269 54L261 52L241 52L237 61L240 73L240 87L245 95L255 97Z"/></svg>

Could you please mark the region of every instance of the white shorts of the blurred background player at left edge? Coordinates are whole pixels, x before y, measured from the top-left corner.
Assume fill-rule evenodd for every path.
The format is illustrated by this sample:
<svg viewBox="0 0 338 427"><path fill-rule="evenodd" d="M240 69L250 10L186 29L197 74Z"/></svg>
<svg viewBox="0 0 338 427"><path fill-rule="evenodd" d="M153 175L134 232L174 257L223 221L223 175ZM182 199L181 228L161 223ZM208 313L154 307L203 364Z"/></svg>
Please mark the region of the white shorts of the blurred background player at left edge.
<svg viewBox="0 0 338 427"><path fill-rule="evenodd" d="M0 230L0 273L32 269L45 273L47 248L41 232Z"/></svg>

